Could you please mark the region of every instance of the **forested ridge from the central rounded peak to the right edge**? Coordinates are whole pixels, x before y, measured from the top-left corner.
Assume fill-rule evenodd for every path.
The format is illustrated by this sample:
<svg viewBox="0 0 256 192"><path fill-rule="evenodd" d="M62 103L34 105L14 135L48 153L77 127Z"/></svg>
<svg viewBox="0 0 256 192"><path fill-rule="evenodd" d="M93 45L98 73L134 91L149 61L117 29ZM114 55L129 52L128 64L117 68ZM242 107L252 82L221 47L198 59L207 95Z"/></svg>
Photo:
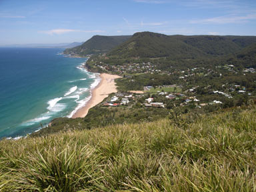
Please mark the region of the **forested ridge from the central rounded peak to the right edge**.
<svg viewBox="0 0 256 192"><path fill-rule="evenodd" d="M256 37L213 35L163 35L159 33L135 33L128 41L115 47L108 54L121 58L175 57L201 58L237 53L256 43Z"/></svg>

